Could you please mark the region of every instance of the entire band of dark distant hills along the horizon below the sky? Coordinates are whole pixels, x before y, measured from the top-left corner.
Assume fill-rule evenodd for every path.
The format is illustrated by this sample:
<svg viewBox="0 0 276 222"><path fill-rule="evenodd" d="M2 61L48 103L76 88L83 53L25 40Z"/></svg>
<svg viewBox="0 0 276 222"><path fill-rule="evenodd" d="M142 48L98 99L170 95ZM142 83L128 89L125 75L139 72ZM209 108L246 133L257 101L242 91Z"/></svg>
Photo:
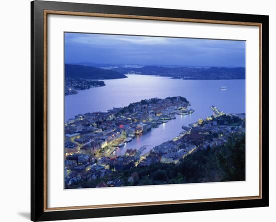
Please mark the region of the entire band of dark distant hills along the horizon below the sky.
<svg viewBox="0 0 276 222"><path fill-rule="evenodd" d="M125 78L125 74L159 75L181 79L245 79L245 67L165 67L146 65L131 67L127 65L95 67L96 63L65 64L65 76L86 79ZM99 64L98 64L99 65Z"/></svg>

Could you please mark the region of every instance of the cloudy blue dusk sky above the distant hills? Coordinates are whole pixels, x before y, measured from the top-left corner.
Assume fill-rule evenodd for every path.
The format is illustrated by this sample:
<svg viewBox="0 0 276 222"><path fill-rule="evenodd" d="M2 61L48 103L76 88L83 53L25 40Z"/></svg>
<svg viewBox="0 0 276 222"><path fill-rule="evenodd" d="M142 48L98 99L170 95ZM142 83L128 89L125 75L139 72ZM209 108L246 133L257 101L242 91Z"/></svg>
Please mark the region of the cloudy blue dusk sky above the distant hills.
<svg viewBox="0 0 276 222"><path fill-rule="evenodd" d="M245 41L65 33L65 63L245 67Z"/></svg>

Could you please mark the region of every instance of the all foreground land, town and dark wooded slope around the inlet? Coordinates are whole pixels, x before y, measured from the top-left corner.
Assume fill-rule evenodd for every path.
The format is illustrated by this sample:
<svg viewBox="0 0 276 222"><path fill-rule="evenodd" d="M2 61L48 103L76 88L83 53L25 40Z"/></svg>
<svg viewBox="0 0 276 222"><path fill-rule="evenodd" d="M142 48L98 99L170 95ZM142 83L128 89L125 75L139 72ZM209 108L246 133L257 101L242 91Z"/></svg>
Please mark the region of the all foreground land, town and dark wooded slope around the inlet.
<svg viewBox="0 0 276 222"><path fill-rule="evenodd" d="M135 135L143 136L175 114L192 113L189 105L181 96L150 98L70 119L65 123L66 188L244 180L239 164L245 161L245 114L226 114L214 105L212 116L183 126L172 140L146 153L142 146L116 154ZM230 175L220 161L237 154Z"/></svg>

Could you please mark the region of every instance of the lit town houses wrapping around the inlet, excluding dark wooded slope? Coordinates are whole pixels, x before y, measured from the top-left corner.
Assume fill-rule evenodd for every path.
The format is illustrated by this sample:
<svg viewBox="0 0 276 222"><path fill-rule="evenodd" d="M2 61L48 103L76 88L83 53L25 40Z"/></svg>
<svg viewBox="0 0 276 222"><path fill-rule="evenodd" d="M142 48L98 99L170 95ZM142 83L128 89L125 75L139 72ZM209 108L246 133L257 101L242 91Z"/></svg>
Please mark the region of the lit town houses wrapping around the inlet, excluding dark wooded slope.
<svg viewBox="0 0 276 222"><path fill-rule="evenodd" d="M143 136L143 132L170 119L175 111L187 110L188 105L180 96L152 98L69 119L65 124L65 187L120 186L123 181L114 172L157 162L178 163L197 148L222 145L232 133L245 132L245 116L223 113L183 126L181 135L146 154L142 155L142 149L112 154L120 143L135 134ZM136 174L127 179L130 183L135 180Z"/></svg>

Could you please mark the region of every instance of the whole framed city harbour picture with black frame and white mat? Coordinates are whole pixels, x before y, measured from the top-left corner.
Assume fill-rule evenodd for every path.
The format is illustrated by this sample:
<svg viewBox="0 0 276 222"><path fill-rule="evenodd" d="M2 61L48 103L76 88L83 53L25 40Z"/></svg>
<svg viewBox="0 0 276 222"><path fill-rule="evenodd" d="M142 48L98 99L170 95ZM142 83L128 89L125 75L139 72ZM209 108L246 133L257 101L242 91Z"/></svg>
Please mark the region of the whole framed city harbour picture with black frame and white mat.
<svg viewBox="0 0 276 222"><path fill-rule="evenodd" d="M31 219L268 206L268 16L31 2Z"/></svg>

